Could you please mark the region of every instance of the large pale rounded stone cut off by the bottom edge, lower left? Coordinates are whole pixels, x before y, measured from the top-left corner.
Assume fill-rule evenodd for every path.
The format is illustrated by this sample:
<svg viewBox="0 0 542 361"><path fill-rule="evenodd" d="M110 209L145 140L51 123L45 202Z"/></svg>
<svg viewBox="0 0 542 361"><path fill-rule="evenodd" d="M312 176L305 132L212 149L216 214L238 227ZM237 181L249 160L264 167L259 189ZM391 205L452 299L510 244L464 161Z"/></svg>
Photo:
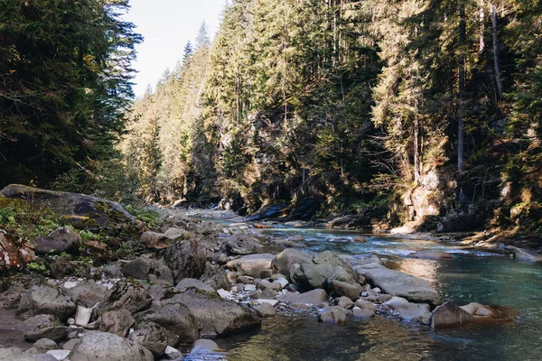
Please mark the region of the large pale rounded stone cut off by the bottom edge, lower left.
<svg viewBox="0 0 542 361"><path fill-rule="evenodd" d="M90 331L70 353L70 361L154 361L151 351L136 342L101 331Z"/></svg>

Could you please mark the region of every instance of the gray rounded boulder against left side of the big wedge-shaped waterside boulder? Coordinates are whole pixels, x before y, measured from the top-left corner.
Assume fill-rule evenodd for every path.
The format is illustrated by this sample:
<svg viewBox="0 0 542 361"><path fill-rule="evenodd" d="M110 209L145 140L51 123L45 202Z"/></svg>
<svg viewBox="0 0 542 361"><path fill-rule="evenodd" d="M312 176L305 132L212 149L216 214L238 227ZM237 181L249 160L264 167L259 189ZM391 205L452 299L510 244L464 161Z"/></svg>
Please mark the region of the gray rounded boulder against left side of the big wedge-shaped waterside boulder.
<svg viewBox="0 0 542 361"><path fill-rule="evenodd" d="M154 322L177 335L183 343L198 338L198 322L192 311L182 303L169 303L136 313L138 323ZM171 345L174 346L174 345Z"/></svg>

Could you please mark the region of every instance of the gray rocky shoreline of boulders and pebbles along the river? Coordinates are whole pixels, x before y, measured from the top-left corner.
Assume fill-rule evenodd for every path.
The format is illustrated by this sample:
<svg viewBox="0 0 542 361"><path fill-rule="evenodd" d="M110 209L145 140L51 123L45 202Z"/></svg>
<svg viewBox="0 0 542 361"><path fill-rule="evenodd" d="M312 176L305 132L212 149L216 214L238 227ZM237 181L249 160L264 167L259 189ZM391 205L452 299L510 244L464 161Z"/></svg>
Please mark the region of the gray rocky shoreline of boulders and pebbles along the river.
<svg viewBox="0 0 542 361"><path fill-rule="evenodd" d="M428 282L389 269L377 255L310 254L302 236L267 236L266 224L192 216L164 210L160 227L141 230L139 255L90 267L86 277L3 278L0 304L16 310L27 347L2 345L9 348L0 348L0 360L180 360L179 349L192 359L220 355L209 338L290 314L332 324L384 317L432 329L514 321L499 308L444 302ZM78 242L61 227L29 247L50 255L63 246L69 255Z"/></svg>

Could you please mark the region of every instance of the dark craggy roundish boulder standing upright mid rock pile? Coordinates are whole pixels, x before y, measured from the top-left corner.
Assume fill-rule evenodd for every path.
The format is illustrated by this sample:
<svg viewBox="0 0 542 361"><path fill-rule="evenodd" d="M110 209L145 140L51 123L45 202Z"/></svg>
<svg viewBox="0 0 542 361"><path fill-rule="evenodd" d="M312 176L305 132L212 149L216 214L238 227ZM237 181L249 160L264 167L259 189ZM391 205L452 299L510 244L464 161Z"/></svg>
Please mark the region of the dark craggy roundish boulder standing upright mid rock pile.
<svg viewBox="0 0 542 361"><path fill-rule="evenodd" d="M207 249L197 239L176 241L165 251L164 261L172 271L174 281L200 278L205 272Z"/></svg>

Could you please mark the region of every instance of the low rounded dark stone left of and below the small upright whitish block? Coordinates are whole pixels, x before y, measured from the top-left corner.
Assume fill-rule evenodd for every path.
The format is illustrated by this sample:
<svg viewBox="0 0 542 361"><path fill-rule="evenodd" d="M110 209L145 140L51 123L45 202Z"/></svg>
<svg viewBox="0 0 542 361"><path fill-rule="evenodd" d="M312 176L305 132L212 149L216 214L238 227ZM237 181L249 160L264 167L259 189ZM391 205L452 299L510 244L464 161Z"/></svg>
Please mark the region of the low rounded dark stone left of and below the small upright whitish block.
<svg viewBox="0 0 542 361"><path fill-rule="evenodd" d="M23 333L24 339L30 342L41 338L59 342L66 336L66 327L61 320L48 314L40 314L24 320L19 330Z"/></svg>

